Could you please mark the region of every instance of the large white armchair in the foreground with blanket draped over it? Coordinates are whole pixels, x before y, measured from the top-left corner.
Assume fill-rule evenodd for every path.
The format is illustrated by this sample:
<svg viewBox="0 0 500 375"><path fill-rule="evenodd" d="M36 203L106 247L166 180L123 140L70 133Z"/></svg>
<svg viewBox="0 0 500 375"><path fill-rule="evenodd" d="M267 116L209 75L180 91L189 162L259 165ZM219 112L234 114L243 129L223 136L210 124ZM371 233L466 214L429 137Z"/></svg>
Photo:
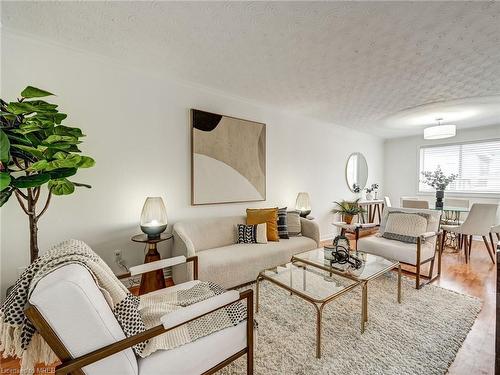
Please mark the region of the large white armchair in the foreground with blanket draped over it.
<svg viewBox="0 0 500 375"><path fill-rule="evenodd" d="M185 257L132 267L131 274L185 263ZM196 258L190 259L195 264ZM166 290L188 289L192 280ZM146 358L131 347L192 320L246 300L247 320L172 350L159 350ZM26 315L60 358L56 374L179 375L212 374L240 356L247 355L247 373L253 374L253 292L228 291L166 314L161 323L140 334L125 337L105 296L91 274L79 264L69 264L45 276L30 297Z"/></svg>

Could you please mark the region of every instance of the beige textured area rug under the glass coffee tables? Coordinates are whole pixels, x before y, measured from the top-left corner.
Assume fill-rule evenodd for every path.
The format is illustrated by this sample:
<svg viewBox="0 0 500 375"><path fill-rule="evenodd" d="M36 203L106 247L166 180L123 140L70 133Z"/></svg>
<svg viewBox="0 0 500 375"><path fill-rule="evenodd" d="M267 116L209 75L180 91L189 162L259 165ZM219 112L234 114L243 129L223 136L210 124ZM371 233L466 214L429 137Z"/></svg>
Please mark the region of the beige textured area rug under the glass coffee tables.
<svg viewBox="0 0 500 375"><path fill-rule="evenodd" d="M314 307L263 281L255 316L255 373L445 374L481 310L480 300L434 285L415 290L415 281L404 277L398 304L396 282L392 273L370 281L364 334L360 288L328 304L317 359ZM242 357L219 374L245 374L245 364Z"/></svg>

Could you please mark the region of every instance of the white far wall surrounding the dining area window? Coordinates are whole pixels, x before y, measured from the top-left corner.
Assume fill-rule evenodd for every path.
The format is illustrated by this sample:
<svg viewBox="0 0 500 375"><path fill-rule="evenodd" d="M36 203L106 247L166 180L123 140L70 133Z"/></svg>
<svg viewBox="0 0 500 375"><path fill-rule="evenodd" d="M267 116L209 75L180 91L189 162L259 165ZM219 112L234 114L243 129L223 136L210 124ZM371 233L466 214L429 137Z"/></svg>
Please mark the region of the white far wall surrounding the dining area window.
<svg viewBox="0 0 500 375"><path fill-rule="evenodd" d="M391 198L393 204L399 205L401 196L419 195L434 203L433 194L418 194L418 152L419 147L430 144L446 144L500 137L500 125L475 129L457 130L457 135L451 139L425 141L423 136L388 139L384 144L384 192ZM445 193L446 196L454 196ZM500 196L455 195L466 198L470 203L497 203Z"/></svg>

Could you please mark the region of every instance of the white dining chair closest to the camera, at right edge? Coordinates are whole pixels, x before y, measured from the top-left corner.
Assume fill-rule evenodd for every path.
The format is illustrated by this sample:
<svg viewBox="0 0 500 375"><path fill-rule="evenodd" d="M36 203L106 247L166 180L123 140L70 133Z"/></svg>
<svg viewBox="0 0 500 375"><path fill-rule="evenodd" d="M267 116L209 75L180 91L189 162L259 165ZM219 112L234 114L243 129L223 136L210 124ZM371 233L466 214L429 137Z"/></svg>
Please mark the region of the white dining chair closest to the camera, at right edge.
<svg viewBox="0 0 500 375"><path fill-rule="evenodd" d="M492 203L474 203L470 209L469 215L462 224L441 225L443 230L443 239L447 232L459 233L464 238L464 255L465 263L470 260L470 253L472 248L472 236L481 236L483 242L488 250L488 255L491 261L495 263L494 249L490 249L490 244L486 239L490 236L492 227L496 224L498 204ZM490 237L491 239L491 237ZM444 243L441 245L441 249Z"/></svg>

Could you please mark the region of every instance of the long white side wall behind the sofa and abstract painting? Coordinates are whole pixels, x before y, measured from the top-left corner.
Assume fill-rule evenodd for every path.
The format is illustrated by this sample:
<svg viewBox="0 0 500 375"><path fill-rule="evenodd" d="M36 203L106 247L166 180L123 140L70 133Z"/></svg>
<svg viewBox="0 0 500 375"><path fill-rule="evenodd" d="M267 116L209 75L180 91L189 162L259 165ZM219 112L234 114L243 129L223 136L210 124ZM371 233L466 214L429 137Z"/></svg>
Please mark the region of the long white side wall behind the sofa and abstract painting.
<svg viewBox="0 0 500 375"><path fill-rule="evenodd" d="M289 116L266 106L129 69L114 60L4 30L1 97L26 85L59 96L67 124L87 134L82 149L96 166L75 180L92 185L55 197L39 222L42 251L67 238L86 241L110 265L113 250L141 263L138 219L145 197L161 195L170 222L243 214L247 207L293 207L299 191L311 195L321 235L331 236L332 201L351 198L344 179L348 155L365 154L368 183L382 182L383 141L344 127ZM256 77L258 79L258 77ZM189 109L223 113L267 124L267 201L190 205ZM28 263L28 223L12 199L1 210L1 293ZM161 252L168 255L166 245Z"/></svg>

